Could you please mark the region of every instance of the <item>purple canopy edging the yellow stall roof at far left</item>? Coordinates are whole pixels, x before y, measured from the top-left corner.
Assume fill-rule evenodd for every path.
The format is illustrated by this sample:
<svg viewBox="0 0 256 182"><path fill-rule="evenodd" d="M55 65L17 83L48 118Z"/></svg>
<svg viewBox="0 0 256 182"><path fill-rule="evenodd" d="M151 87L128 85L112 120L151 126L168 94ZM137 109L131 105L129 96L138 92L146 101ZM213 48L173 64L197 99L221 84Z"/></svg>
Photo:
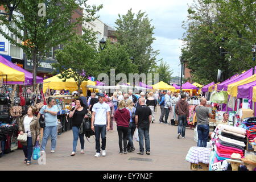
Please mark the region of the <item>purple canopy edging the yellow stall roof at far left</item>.
<svg viewBox="0 0 256 182"><path fill-rule="evenodd" d="M25 73L25 81L8 81L7 83L9 84L24 84L24 85L32 85L33 84L33 74L26 71L23 68L20 68L19 66L17 66L14 63L11 63L10 61L8 61L7 59L5 59L3 56L0 56L0 63L3 63L5 65L7 65L10 68L16 69L17 71L23 72ZM36 82L37 83L42 83L43 82L43 78L36 76Z"/></svg>

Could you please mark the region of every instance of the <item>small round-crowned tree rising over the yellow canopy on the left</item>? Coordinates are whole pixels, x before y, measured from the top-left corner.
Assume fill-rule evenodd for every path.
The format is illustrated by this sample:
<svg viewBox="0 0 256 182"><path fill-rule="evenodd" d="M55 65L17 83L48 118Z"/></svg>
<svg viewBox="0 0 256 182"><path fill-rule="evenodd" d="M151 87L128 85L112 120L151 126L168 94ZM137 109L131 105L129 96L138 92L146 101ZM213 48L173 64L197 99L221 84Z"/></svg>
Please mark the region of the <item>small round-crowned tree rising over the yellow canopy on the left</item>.
<svg viewBox="0 0 256 182"><path fill-rule="evenodd" d="M56 60L57 63L53 64L53 67L60 72L59 78L64 79L63 81L74 78L79 92L83 81L100 72L96 49L79 35L73 36L64 44L63 50L56 50Z"/></svg>

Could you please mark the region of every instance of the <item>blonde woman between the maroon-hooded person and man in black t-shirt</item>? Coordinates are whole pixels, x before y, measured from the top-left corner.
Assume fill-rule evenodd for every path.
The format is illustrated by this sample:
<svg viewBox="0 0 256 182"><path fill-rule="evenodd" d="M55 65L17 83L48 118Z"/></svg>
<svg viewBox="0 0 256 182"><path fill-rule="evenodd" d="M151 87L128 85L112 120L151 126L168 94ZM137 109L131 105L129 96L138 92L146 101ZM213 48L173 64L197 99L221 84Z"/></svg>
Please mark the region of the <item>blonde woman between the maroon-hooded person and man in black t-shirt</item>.
<svg viewBox="0 0 256 182"><path fill-rule="evenodd" d="M136 125L135 125L136 108L134 107L133 101L131 101L130 99L126 103L126 109L129 110L129 113L130 113L129 129L127 134L127 139L129 140L127 144L127 151L132 152L135 150L133 145L133 135L134 135L134 131L136 130Z"/></svg>

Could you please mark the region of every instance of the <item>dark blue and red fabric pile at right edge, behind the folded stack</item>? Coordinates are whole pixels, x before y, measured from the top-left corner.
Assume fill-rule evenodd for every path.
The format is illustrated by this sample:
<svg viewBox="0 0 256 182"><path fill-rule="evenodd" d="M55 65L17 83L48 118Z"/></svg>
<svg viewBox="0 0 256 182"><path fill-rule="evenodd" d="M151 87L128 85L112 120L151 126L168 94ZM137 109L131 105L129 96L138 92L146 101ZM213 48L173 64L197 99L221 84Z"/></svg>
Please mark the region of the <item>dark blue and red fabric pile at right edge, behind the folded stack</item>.
<svg viewBox="0 0 256 182"><path fill-rule="evenodd" d="M246 136L249 140L256 137L256 117L245 118L242 126L246 129Z"/></svg>

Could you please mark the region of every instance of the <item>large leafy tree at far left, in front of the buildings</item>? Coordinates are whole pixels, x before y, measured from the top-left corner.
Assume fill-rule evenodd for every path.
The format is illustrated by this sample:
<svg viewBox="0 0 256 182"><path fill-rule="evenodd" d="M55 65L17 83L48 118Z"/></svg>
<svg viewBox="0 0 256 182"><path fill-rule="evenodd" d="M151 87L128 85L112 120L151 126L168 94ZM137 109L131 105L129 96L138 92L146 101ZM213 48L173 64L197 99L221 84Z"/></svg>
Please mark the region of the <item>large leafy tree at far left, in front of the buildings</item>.
<svg viewBox="0 0 256 182"><path fill-rule="evenodd" d="M86 1L46 1L46 15L39 16L40 7L38 6L42 1L22 0L16 9L19 14L13 15L12 18L15 26L8 22L5 15L0 16L0 33L11 44L21 47L26 53L27 59L32 60L34 85L36 84L36 68L40 61L46 57L49 49L67 42L75 34L76 25L80 24L82 20L89 22L97 18L94 18L93 15L101 9L102 5L98 7L88 6ZM89 14L77 18L75 22L70 22L73 11L80 9L82 5ZM2 27L7 27L23 44L16 42L13 37L6 34ZM15 27L18 27L18 30Z"/></svg>

